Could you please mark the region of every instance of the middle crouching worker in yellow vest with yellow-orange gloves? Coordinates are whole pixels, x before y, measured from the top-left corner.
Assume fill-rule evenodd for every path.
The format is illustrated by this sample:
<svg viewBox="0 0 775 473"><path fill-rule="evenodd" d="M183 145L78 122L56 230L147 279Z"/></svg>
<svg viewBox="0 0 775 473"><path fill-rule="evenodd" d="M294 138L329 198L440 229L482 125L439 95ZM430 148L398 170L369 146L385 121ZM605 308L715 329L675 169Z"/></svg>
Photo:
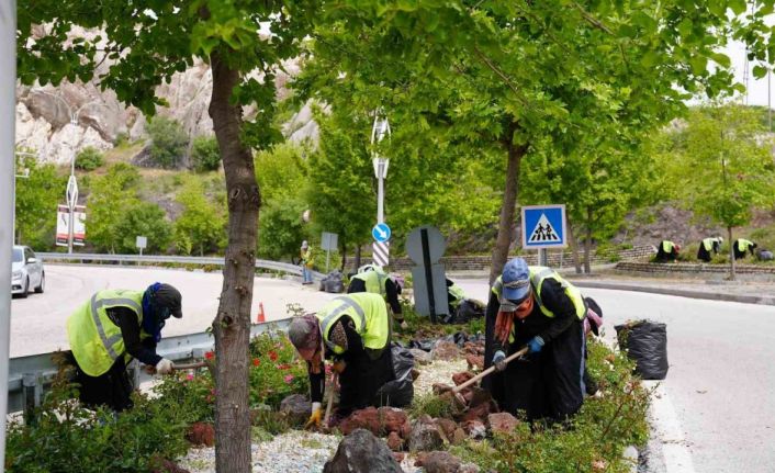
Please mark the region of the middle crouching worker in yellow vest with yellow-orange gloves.
<svg viewBox="0 0 775 473"><path fill-rule="evenodd" d="M378 394L394 380L391 358L391 319L380 294L356 293L336 297L316 314L291 322L288 337L306 360L312 415L307 425L323 420L324 359L333 362L339 379L339 408L344 418L368 406L394 405ZM411 402L411 399L409 399Z"/></svg>

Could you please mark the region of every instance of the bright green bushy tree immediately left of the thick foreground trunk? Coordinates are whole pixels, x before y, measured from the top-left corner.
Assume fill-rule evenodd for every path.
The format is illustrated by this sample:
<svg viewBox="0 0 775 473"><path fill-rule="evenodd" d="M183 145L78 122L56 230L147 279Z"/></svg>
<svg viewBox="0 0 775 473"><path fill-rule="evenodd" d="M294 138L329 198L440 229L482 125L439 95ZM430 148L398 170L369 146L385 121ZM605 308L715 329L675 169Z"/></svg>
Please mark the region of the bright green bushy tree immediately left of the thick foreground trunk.
<svg viewBox="0 0 775 473"><path fill-rule="evenodd" d="M176 196L183 212L175 221L175 244L179 252L200 256L218 251L225 244L226 216L223 206L212 203L202 181L188 179Z"/></svg>

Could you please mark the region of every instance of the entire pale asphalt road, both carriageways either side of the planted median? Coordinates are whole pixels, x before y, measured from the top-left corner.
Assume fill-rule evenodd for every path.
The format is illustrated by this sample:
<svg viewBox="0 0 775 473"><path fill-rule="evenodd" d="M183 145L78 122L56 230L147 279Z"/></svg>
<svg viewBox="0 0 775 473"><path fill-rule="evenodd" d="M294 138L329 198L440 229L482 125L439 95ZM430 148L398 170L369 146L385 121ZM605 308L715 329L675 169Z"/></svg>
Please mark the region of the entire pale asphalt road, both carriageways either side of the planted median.
<svg viewBox="0 0 775 473"><path fill-rule="evenodd" d="M102 288L145 288L169 282L183 294L183 319L165 335L204 330L221 292L220 273L159 269L47 266L45 294L14 299L11 356L67 347L65 320ZM460 280L468 296L487 299L484 280ZM584 290L614 325L651 318L667 324L670 373L654 398L649 473L775 471L775 307L648 293ZM285 304L316 309L333 297L297 281L257 279L254 309L268 319L287 316Z"/></svg>

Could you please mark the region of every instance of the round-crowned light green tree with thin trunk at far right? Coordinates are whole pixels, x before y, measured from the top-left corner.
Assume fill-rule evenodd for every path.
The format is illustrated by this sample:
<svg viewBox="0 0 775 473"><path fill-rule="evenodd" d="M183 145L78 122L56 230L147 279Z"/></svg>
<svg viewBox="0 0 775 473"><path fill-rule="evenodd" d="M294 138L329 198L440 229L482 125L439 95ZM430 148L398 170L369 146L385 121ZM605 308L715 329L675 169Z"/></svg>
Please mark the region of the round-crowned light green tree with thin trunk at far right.
<svg viewBox="0 0 775 473"><path fill-rule="evenodd" d="M730 278L734 279L734 227L748 225L755 206L775 202L772 138L754 109L738 104L696 108L673 133L675 148L665 164L681 176L681 195L699 215L727 227Z"/></svg>

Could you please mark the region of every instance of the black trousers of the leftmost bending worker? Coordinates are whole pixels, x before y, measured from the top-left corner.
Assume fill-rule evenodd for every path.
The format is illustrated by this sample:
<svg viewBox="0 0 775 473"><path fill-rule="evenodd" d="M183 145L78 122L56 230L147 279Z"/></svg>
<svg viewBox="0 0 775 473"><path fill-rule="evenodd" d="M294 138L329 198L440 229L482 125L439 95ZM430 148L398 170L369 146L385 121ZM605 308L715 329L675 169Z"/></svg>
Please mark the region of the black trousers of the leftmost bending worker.
<svg viewBox="0 0 775 473"><path fill-rule="evenodd" d="M79 387L80 402L90 408L106 406L115 412L122 412L133 406L132 383L126 372L124 357L119 357L106 373L99 376L86 374L75 358L71 357L76 367L76 383Z"/></svg>

